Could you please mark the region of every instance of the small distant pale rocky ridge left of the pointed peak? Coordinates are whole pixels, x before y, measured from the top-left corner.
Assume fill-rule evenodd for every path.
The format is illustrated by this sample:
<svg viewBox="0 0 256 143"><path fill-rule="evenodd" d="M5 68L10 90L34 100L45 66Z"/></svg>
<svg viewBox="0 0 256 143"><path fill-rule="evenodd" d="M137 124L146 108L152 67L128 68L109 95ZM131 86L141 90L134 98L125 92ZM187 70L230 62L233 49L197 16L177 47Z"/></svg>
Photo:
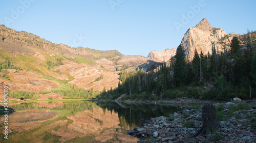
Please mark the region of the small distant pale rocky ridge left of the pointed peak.
<svg viewBox="0 0 256 143"><path fill-rule="evenodd" d="M176 54L176 48L172 49L165 49L161 51L151 51L150 54L147 55L147 57L150 57L152 59L159 60L160 62L166 62L170 58L172 58Z"/></svg>

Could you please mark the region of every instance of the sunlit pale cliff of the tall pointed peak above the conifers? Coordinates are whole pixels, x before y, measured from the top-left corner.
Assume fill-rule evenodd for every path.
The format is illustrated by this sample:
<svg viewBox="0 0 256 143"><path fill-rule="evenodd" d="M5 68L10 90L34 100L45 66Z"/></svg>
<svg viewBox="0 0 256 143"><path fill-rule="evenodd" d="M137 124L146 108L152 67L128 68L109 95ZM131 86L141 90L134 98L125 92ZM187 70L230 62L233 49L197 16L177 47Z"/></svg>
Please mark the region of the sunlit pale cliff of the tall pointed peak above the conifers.
<svg viewBox="0 0 256 143"><path fill-rule="evenodd" d="M204 54L211 54L212 46L215 45L217 52L228 51L228 46L233 36L238 34L227 35L221 28L215 28L204 18L195 27L188 28L181 41L186 54L186 58L191 61L195 53L195 49ZM214 43L214 44L213 44Z"/></svg>

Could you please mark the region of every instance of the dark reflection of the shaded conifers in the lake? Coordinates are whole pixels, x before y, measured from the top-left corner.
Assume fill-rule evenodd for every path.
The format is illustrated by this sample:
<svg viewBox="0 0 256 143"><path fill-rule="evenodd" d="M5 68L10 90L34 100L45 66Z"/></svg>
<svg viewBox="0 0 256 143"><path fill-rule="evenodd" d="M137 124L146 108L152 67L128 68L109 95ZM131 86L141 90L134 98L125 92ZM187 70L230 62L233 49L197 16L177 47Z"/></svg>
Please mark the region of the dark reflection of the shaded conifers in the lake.
<svg viewBox="0 0 256 143"><path fill-rule="evenodd" d="M168 116L173 114L177 109L174 106L160 106L150 104L126 104L115 102L111 103L98 103L103 109L110 110L111 112L117 112L120 121L120 126L126 130L133 129L134 127L141 127L145 120L158 116Z"/></svg>

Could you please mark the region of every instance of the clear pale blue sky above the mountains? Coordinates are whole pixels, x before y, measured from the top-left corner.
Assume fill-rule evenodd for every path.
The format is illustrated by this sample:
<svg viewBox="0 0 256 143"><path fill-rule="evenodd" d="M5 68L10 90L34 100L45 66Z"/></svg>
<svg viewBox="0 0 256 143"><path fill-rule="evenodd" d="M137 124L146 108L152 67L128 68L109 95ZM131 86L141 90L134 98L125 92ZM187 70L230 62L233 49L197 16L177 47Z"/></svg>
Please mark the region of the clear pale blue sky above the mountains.
<svg viewBox="0 0 256 143"><path fill-rule="evenodd" d="M255 31L255 6L253 0L12 0L0 1L0 23L54 43L147 56L177 48L187 29L203 18L226 33ZM190 14L188 21L182 22L182 14ZM183 27L177 30L175 22Z"/></svg>

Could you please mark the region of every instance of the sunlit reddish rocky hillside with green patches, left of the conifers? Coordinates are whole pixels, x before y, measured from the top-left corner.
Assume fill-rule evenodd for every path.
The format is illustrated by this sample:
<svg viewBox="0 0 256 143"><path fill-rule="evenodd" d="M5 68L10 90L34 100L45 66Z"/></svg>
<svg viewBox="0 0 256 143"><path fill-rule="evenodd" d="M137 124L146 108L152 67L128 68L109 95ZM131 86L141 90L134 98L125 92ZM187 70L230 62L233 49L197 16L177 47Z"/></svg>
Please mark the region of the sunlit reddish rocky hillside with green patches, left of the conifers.
<svg viewBox="0 0 256 143"><path fill-rule="evenodd" d="M124 56L117 50L71 48L0 25L0 93L4 85L10 91L36 93L47 93L63 84L86 91L110 90L117 87L120 71L143 64L148 67L152 59L155 57Z"/></svg>

